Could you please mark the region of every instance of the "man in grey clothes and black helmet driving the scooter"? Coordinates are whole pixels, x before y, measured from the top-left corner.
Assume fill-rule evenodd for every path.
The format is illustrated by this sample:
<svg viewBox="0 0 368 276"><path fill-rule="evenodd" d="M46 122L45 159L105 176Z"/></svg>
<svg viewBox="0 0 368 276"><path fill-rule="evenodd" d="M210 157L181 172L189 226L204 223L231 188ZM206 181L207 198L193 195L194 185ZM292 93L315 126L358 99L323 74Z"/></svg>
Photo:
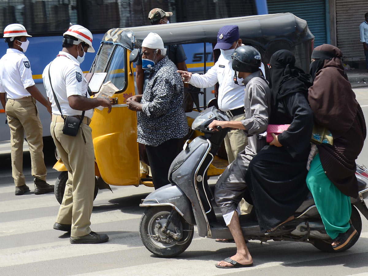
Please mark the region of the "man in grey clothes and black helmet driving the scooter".
<svg viewBox="0 0 368 276"><path fill-rule="evenodd" d="M245 150L238 154L216 183L215 201L237 246L237 253L218 262L216 265L218 268L244 267L253 263L240 228L238 204L247 188L244 176L248 165L256 153L266 145L266 139L259 134L266 131L271 111L271 91L258 68L261 66L261 54L252 46L241 46L231 54L231 58L233 70L238 71L237 76L244 79L242 82L245 85L245 118L241 121L214 120L208 127L237 128L251 136L248 137Z"/></svg>

